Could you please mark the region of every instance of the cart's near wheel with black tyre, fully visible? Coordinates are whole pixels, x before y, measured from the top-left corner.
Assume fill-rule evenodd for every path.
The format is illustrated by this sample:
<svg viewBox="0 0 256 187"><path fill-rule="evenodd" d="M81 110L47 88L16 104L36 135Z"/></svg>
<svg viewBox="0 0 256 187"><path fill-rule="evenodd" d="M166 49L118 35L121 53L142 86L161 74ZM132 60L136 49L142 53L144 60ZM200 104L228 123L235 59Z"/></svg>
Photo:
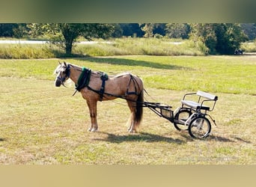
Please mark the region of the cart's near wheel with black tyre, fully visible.
<svg viewBox="0 0 256 187"><path fill-rule="evenodd" d="M196 117L189 124L189 135L192 138L206 138L210 134L210 121L206 117Z"/></svg>

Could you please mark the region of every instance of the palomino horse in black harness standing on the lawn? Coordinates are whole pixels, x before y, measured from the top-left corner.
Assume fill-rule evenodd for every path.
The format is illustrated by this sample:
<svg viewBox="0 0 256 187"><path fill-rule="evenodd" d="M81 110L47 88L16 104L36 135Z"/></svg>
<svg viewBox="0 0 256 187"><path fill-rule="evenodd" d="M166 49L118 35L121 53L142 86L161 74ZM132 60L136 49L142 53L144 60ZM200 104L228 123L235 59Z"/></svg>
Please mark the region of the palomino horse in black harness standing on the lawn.
<svg viewBox="0 0 256 187"><path fill-rule="evenodd" d="M60 63L55 69L57 74L55 86L64 85L67 79L76 84L76 90L80 91L86 99L91 117L90 132L98 130L97 124L97 101L105 101L116 98L127 100L131 111L128 132L137 132L141 122L144 102L143 82L138 76L131 73L121 73L116 76L106 76L105 73L91 71L85 67L79 67L66 62Z"/></svg>

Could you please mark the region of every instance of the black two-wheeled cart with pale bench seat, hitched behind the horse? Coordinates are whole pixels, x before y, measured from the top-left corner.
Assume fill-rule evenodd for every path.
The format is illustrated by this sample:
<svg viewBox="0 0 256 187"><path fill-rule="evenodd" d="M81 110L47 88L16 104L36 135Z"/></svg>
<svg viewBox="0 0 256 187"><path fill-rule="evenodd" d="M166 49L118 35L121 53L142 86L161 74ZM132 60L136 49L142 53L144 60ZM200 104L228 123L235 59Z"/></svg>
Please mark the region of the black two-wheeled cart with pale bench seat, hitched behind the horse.
<svg viewBox="0 0 256 187"><path fill-rule="evenodd" d="M159 117L169 120L177 130L188 130L192 138L206 138L211 131L210 120L216 125L215 120L207 112L213 111L217 100L218 96L198 91L186 93L181 100L181 106L175 111L170 105L159 102L142 102L141 104L143 107L150 108ZM210 106L205 105L207 102Z"/></svg>

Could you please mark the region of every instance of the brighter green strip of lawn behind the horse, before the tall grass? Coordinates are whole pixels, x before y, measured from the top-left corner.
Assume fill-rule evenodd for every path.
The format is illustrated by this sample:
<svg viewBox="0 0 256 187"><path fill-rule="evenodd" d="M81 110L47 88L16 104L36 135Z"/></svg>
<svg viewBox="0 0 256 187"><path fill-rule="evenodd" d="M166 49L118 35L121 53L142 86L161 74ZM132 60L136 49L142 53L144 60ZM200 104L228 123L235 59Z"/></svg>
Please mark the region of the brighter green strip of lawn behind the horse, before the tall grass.
<svg viewBox="0 0 256 187"><path fill-rule="evenodd" d="M256 94L255 56L250 55L115 56L64 60L92 70L106 71L110 75L129 71L141 76L148 88ZM0 76L51 80L58 61L59 59L13 60L5 63L6 61L1 60Z"/></svg>

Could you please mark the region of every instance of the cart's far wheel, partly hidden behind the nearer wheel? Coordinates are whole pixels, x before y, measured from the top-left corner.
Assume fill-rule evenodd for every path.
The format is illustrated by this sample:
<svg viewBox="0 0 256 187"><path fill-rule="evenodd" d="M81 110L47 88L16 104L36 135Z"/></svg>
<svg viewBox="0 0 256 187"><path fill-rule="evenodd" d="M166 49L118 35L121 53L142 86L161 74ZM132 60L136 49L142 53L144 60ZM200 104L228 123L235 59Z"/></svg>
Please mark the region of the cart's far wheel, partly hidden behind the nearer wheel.
<svg viewBox="0 0 256 187"><path fill-rule="evenodd" d="M189 108L181 108L174 116L174 127L177 130L187 130L188 126L185 125L185 121L192 115L192 111Z"/></svg>

